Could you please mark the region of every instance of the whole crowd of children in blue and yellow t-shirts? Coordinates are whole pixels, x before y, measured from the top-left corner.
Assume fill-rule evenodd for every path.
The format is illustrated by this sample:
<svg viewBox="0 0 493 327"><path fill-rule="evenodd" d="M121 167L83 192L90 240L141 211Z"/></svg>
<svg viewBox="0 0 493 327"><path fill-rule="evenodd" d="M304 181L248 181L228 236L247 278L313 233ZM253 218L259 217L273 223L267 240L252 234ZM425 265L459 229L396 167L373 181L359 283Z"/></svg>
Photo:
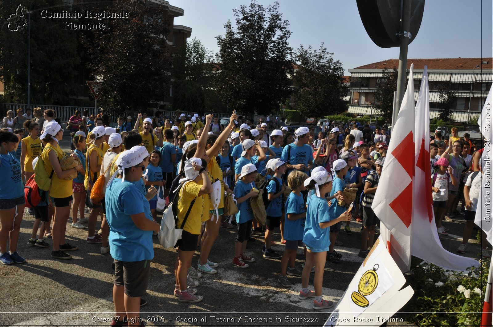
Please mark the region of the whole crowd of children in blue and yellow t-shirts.
<svg viewBox="0 0 493 327"><path fill-rule="evenodd" d="M34 176L40 200L32 205L35 224L28 244L49 247L51 237L51 257L70 260L67 252L78 250L65 239L70 213L72 228L85 229L87 223L86 242L101 244L101 253L110 253L114 259L113 299L117 317L122 317L114 318L117 325L138 318L149 278L148 262L154 257L152 234L160 230L160 199L168 197L177 203L176 226L182 234L175 246L174 295L180 302L203 300L197 294L196 279L218 272L219 264L211 261L210 254L220 227L237 229L231 262L239 268L248 268L256 260L246 254L251 233L263 235L263 258L281 259L280 285L292 287L288 275L301 277L299 298L313 298L316 310L333 305L322 298L322 280L326 261L344 260L334 249L341 245L337 237L342 223L344 232L352 234L349 222L362 222L359 257L365 258L373 246L379 219L371 205L389 140L384 129L365 143L368 133L361 133L356 125L346 134L337 127L327 134L320 132L317 139L307 127L298 128L294 135L286 128L269 135L266 124L257 129L243 124L239 129L235 113L225 127L212 115L202 124L198 116L185 122L184 115L177 114L174 125L166 120L163 129L159 121L144 115L139 115L134 129L130 129L130 116L126 123L120 117L112 128L103 114L90 120L94 124L90 131L85 129L88 125L78 125L79 116L70 121L74 131L82 126L72 136L75 161L70 169L62 168L67 155L59 146L63 129L56 121L47 121L41 128L27 120L24 126L29 135L22 139L0 131L0 166L5 172L0 179L0 260L3 264L25 262L16 249L27 198L23 184ZM437 232L447 235L442 221L464 216L464 238L457 250L464 253L483 176L478 163L481 150L471 153L468 140L451 138L445 144L437 136L430 143ZM20 161L16 158L19 143ZM211 196L215 183L224 195L218 202ZM100 199L93 196L95 190L102 193ZM231 217L224 214L224 197L229 195L238 206ZM266 214L262 223L252 202L259 196ZM459 201L464 214L457 209ZM88 218L85 206L91 208ZM273 249L272 236L277 231L285 245L282 254ZM486 237L482 240L481 256L486 258ZM195 268L192 258L199 245ZM295 265L299 247L304 249L301 267ZM308 285L311 272L315 273L314 291Z"/></svg>

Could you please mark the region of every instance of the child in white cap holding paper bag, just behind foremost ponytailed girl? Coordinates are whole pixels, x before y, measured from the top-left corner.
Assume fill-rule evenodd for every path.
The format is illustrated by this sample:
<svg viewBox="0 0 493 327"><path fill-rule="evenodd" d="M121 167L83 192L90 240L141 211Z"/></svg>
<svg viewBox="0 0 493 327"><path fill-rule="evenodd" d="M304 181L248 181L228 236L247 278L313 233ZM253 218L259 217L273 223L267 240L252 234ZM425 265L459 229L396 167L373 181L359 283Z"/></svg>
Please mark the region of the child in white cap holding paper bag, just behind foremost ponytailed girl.
<svg viewBox="0 0 493 327"><path fill-rule="evenodd" d="M344 189L346 187L344 183L344 177L348 174L348 164L343 159L338 159L334 162L334 171L336 172L334 181L332 182L332 190L330 191L330 196L334 200L330 204L331 217L336 218L344 213L346 206L351 204L351 201L344 195ZM346 202L346 206L341 206L338 204L339 199ZM334 251L334 243L336 241L339 230L341 229L341 223L338 222L330 227L330 247L328 253L328 259L330 262L339 263L341 262L342 255Z"/></svg>

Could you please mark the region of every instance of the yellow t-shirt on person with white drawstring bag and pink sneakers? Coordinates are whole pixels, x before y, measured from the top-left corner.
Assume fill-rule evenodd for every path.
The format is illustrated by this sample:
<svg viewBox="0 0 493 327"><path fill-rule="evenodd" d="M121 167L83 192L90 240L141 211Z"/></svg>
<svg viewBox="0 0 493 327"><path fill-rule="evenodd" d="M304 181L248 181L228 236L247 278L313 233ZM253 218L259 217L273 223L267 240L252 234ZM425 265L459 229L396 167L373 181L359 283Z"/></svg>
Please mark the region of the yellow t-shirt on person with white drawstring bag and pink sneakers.
<svg viewBox="0 0 493 327"><path fill-rule="evenodd" d="M176 227L181 228L181 224L183 223L186 212L188 211L188 208L190 208L190 203L195 197L197 197L193 204L192 210L190 210L190 214L188 215L188 218L185 222L185 226L183 227L183 230L186 230L193 235L200 235L200 229L202 225L201 218L204 213L204 197L206 195L199 196L201 188L202 185L194 181L187 182L180 190L177 204L178 214ZM209 210L207 212L209 213Z"/></svg>

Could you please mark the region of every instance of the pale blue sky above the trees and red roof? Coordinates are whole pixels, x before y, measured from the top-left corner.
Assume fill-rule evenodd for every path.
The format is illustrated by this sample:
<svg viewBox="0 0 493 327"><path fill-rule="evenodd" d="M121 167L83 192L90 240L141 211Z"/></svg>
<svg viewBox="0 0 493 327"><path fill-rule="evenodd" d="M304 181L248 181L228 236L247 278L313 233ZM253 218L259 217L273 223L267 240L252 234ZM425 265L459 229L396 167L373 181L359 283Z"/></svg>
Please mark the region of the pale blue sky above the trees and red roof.
<svg viewBox="0 0 493 327"><path fill-rule="evenodd" d="M196 37L213 53L218 51L215 36L225 33L233 9L249 0L169 0L183 8L175 25L192 28ZM399 48L380 48L366 33L355 0L281 0L279 11L289 21L290 46L300 44L317 49L324 43L334 59L348 69L387 59L398 59ZM268 6L270 0L257 0ZM419 33L408 48L408 58L493 57L491 0L425 0Z"/></svg>

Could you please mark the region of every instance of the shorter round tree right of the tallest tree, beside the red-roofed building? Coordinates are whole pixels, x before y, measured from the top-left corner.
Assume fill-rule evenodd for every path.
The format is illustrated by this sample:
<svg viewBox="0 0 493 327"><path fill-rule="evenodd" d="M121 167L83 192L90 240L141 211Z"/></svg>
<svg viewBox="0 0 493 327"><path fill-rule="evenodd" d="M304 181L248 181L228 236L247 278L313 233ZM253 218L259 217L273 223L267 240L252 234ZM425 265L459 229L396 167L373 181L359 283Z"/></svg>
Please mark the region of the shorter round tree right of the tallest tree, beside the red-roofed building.
<svg viewBox="0 0 493 327"><path fill-rule="evenodd" d="M293 75L294 107L305 117L335 114L344 96L341 62L332 58L334 54L327 52L323 43L318 50L301 45L297 52L299 69Z"/></svg>

